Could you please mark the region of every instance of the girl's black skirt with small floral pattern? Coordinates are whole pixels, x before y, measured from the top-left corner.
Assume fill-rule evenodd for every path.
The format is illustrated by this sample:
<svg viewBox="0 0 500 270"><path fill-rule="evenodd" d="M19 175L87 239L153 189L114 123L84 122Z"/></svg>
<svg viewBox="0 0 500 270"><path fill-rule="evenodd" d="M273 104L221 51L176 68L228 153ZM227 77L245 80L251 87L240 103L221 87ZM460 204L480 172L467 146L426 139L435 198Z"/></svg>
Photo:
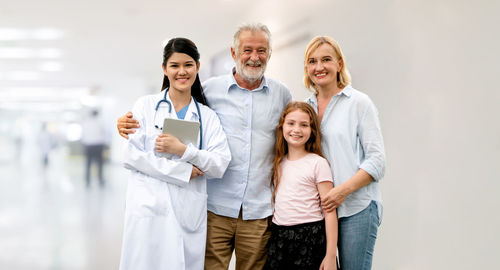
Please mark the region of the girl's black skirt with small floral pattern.
<svg viewBox="0 0 500 270"><path fill-rule="evenodd" d="M271 225L265 270L319 269L326 253L325 221Z"/></svg>

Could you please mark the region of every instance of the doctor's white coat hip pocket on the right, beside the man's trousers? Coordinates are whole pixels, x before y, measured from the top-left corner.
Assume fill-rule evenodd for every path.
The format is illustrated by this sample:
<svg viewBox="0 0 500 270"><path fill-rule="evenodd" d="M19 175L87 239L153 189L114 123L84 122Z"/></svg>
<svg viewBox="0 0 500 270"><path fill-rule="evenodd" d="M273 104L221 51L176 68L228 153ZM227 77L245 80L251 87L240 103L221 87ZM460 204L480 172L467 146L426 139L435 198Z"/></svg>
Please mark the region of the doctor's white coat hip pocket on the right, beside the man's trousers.
<svg viewBox="0 0 500 270"><path fill-rule="evenodd" d="M196 232L207 218L207 194L169 185L172 208L181 227Z"/></svg>

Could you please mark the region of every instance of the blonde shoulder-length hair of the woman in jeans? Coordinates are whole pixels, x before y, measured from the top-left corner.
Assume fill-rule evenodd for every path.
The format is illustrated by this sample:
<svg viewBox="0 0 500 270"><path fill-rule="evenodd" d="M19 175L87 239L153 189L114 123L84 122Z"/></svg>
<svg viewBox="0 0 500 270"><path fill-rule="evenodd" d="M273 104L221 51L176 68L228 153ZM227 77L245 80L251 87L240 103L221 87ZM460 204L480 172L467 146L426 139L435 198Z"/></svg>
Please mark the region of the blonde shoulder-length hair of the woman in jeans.
<svg viewBox="0 0 500 270"><path fill-rule="evenodd" d="M332 46L333 50L335 51L335 54L337 55L338 59L337 61L342 63L342 66L340 68L339 73L337 74L337 86L340 89L343 89L346 87L348 84L351 83L351 74L349 74L349 70L347 70L347 64L345 61L344 54L342 53L342 50L340 49L340 45L335 41L333 38L329 36L317 36L314 37L311 42L306 47L306 50L304 52L304 85L306 86L307 89L309 90L314 90L313 92L315 94L318 93L318 90L314 87L314 83L311 81L309 76L307 75L307 62L311 54L318 49L319 46L323 44L328 44Z"/></svg>

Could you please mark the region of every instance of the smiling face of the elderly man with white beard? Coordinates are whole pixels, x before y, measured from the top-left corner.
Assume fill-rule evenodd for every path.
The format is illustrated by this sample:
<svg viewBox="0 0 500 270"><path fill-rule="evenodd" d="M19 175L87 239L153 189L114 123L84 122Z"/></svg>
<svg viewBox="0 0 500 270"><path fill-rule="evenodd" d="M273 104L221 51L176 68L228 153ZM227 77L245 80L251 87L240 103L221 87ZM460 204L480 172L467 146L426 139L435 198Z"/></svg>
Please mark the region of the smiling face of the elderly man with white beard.
<svg viewBox="0 0 500 270"><path fill-rule="evenodd" d="M237 50L231 48L231 55L236 62L236 73L249 82L262 79L269 52L269 40L264 32L242 31Z"/></svg>

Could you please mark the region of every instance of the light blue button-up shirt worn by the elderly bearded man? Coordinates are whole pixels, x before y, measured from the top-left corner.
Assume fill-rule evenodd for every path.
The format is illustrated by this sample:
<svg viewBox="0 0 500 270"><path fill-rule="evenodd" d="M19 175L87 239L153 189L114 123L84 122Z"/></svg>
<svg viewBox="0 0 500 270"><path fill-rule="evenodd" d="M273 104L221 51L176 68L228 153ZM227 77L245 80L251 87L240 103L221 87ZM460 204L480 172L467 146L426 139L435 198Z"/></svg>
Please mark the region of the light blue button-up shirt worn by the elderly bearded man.
<svg viewBox="0 0 500 270"><path fill-rule="evenodd" d="M275 129L292 95L282 83L264 77L252 91L233 74L203 83L208 105L219 116L231 150L222 179L207 182L208 210L226 217L261 219L272 214L271 170Z"/></svg>

